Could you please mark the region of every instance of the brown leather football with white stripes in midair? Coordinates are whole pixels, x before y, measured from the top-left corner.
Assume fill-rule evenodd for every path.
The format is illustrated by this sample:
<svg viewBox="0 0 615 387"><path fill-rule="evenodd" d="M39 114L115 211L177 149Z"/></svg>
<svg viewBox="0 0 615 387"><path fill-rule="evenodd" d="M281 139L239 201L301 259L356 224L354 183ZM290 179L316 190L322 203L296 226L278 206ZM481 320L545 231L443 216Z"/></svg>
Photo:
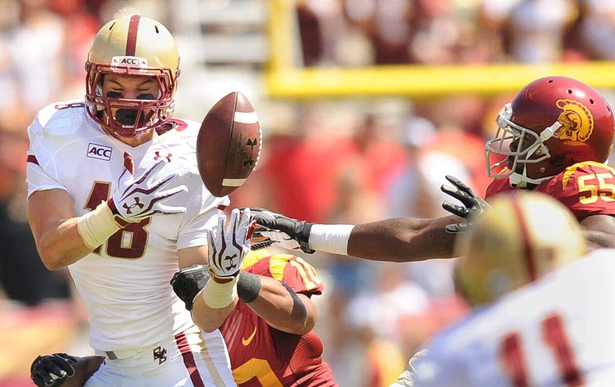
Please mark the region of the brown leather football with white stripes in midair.
<svg viewBox="0 0 615 387"><path fill-rule="evenodd" d="M212 195L223 197L244 184L258 163L262 141L256 112L242 93L213 105L196 141L200 178Z"/></svg>

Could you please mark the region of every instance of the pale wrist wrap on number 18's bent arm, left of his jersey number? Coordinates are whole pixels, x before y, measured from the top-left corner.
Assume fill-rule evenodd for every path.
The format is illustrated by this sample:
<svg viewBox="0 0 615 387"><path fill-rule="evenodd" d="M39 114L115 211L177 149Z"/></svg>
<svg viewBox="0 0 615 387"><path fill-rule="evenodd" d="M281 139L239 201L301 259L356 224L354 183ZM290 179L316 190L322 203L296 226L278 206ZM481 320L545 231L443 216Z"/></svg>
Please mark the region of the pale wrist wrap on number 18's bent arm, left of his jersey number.
<svg viewBox="0 0 615 387"><path fill-rule="evenodd" d="M109 236L120 228L106 201L77 219L77 231L79 231L85 246L90 249L95 249L103 244Z"/></svg>

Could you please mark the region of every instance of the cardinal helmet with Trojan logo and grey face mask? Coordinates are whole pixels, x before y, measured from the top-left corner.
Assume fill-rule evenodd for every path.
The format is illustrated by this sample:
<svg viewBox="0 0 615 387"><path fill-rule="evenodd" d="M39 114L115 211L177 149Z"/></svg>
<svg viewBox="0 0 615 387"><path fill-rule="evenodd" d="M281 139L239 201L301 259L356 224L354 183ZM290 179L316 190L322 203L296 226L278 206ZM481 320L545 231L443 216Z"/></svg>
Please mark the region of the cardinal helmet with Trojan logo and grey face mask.
<svg viewBox="0 0 615 387"><path fill-rule="evenodd" d="M578 162L603 163L615 139L613 111L596 90L568 77L526 85L496 119L496 136L485 144L487 174L513 187L540 184ZM506 155L491 164L490 155ZM501 160L501 158L500 158ZM507 163L506 168L498 168Z"/></svg>

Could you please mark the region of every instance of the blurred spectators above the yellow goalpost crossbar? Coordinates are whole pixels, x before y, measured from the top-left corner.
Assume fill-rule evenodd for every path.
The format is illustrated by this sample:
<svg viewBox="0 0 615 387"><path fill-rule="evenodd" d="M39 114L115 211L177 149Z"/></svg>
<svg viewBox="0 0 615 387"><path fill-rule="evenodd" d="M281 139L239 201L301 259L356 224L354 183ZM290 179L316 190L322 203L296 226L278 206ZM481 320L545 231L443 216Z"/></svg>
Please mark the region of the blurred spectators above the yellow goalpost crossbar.
<svg viewBox="0 0 615 387"><path fill-rule="evenodd" d="M298 19L308 66L615 58L609 0L304 0Z"/></svg>

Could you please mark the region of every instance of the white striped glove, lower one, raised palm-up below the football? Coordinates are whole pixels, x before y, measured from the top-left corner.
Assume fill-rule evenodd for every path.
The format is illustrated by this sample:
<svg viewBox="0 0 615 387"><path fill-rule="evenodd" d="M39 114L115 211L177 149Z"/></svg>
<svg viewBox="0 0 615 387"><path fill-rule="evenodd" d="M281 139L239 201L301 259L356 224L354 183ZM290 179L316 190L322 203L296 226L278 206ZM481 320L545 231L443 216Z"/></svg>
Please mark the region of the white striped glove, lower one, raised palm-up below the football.
<svg viewBox="0 0 615 387"><path fill-rule="evenodd" d="M250 252L250 238L255 222L250 221L250 209L240 213L239 208L231 212L229 227L224 231L226 215L220 215L218 228L207 231L209 246L209 271L218 278L229 278L239 273L242 262Z"/></svg>

